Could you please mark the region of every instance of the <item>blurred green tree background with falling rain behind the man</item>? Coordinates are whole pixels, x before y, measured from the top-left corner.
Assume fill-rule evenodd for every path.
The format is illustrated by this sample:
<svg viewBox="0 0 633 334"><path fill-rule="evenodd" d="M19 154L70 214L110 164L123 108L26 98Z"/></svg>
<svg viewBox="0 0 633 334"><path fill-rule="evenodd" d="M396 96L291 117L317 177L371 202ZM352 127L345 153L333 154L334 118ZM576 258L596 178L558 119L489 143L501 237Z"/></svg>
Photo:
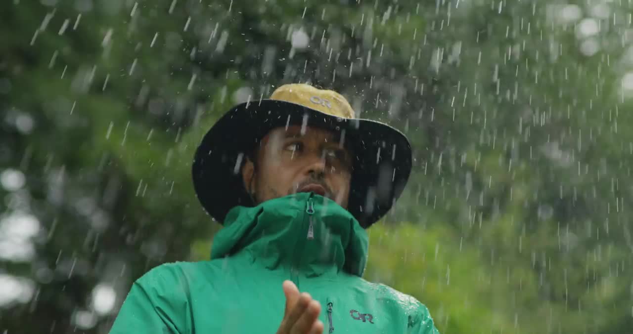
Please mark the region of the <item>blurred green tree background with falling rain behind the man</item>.
<svg viewBox="0 0 633 334"><path fill-rule="evenodd" d="M442 333L633 333L632 13L0 1L0 332L107 333L148 269L208 259L197 143L234 104L307 82L413 145L365 278Z"/></svg>

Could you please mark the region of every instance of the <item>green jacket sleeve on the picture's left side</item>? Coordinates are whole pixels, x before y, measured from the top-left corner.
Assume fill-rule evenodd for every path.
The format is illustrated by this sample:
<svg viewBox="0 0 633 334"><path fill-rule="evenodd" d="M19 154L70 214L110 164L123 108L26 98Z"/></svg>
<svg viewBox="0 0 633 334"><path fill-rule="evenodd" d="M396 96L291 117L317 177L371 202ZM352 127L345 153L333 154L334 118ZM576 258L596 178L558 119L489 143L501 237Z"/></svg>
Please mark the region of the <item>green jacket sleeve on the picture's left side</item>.
<svg viewBox="0 0 633 334"><path fill-rule="evenodd" d="M178 275L158 266L134 282L110 330L111 334L185 334L187 301Z"/></svg>

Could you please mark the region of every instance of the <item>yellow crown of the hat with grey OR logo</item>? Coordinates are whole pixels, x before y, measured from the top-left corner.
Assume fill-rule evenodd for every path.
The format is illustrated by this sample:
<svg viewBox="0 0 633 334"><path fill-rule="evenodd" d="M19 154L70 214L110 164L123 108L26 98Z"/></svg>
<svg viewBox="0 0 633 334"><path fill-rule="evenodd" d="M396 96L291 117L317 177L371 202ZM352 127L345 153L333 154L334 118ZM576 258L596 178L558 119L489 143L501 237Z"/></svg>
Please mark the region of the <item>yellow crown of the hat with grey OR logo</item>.
<svg viewBox="0 0 633 334"><path fill-rule="evenodd" d="M354 118L354 109L334 90L318 89L306 84L288 84L275 89L270 99L301 104L322 113L341 118Z"/></svg>

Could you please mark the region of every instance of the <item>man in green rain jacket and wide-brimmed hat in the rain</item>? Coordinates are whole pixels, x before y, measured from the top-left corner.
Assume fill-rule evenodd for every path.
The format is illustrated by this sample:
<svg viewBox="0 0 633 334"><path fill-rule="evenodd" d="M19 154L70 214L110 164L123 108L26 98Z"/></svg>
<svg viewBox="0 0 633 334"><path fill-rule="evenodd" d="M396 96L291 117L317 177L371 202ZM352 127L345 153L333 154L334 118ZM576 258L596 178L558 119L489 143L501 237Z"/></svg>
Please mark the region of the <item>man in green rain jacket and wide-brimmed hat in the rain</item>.
<svg viewBox="0 0 633 334"><path fill-rule="evenodd" d="M437 333L418 300L361 278L365 229L401 194L411 147L353 117L340 94L292 84L217 121L192 166L224 226L211 261L142 276L112 333Z"/></svg>

